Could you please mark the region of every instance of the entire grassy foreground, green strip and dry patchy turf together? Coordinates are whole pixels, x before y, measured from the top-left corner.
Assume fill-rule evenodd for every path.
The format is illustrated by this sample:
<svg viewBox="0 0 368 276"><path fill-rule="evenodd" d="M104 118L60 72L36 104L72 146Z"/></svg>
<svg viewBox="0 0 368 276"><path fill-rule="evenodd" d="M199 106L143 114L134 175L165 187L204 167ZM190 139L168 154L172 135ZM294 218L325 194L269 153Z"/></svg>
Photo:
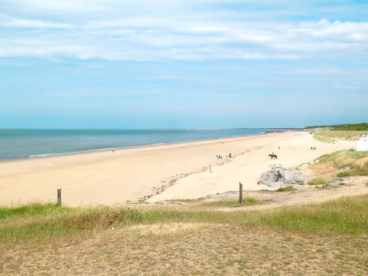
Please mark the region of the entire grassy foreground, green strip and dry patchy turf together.
<svg viewBox="0 0 368 276"><path fill-rule="evenodd" d="M365 275L367 199L247 212L174 204L2 208L0 274Z"/></svg>

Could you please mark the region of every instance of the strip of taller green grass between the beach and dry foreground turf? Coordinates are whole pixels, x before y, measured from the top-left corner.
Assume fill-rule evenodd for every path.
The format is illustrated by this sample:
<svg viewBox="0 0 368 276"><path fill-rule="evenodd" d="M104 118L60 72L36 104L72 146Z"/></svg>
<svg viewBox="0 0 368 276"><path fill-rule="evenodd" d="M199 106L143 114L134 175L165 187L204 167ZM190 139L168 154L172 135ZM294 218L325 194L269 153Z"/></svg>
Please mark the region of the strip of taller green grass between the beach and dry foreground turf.
<svg viewBox="0 0 368 276"><path fill-rule="evenodd" d="M119 228L125 225L171 222L243 225L254 231L267 226L313 233L367 233L367 200L368 195L364 195L292 208L233 212L211 211L205 206L172 209L156 204L149 206L152 208L69 207L68 210L47 215L31 211L3 218L0 224L0 241L22 242L27 239L80 235L89 237L112 226ZM27 208L32 210L32 207ZM63 207L56 209L58 208L62 210ZM35 213L39 215L34 215Z"/></svg>

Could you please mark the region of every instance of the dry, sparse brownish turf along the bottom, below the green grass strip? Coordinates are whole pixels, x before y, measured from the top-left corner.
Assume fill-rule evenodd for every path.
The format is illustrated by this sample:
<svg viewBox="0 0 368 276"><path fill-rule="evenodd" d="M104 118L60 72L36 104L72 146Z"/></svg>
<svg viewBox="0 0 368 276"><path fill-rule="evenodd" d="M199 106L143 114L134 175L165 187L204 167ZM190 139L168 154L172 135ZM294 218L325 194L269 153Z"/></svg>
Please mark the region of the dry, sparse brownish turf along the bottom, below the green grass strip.
<svg viewBox="0 0 368 276"><path fill-rule="evenodd" d="M41 247L19 244L10 250L0 245L0 274L317 276L367 272L367 235L315 236L226 224L161 234L145 235L126 227L104 232L102 242L60 240Z"/></svg>

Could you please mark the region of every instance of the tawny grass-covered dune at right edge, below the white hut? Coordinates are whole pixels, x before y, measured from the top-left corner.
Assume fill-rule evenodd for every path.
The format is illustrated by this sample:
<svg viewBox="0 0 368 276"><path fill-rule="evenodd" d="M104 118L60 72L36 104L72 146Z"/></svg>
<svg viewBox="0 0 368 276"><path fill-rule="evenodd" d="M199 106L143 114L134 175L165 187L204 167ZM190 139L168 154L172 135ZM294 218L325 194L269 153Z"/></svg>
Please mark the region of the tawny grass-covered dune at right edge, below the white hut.
<svg viewBox="0 0 368 276"><path fill-rule="evenodd" d="M336 151L320 156L314 162L333 166L335 169L347 168L345 171L338 173L338 177L368 176L368 152Z"/></svg>

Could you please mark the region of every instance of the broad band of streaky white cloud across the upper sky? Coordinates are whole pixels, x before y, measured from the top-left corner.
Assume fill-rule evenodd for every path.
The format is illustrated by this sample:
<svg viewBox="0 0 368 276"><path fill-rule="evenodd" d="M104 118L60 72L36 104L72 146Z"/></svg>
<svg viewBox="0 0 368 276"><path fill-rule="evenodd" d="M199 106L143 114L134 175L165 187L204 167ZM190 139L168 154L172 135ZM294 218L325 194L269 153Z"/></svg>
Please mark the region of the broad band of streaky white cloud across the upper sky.
<svg viewBox="0 0 368 276"><path fill-rule="evenodd" d="M351 58L368 50L368 22L259 21L251 11L195 10L204 3L214 3L210 0L14 1L35 13L47 10L55 15L63 11L64 15L70 10L70 16L50 20L49 16L0 15L1 57L302 59L324 58L325 53L329 58ZM268 14L266 11L265 16Z"/></svg>

